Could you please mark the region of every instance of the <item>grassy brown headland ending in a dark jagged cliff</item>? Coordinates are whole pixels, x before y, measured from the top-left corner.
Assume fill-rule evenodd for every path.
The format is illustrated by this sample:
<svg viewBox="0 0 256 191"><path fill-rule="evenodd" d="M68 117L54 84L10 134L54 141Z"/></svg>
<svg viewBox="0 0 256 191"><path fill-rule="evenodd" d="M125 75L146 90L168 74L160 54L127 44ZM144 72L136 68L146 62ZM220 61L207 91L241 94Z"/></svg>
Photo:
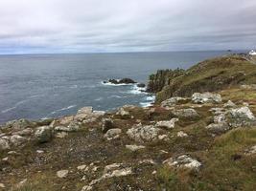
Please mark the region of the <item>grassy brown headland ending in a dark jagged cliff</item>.
<svg viewBox="0 0 256 191"><path fill-rule="evenodd" d="M157 93L156 103L159 103L171 96L191 96L247 83L256 83L256 65L241 55L229 55L205 60L187 71L151 74L148 90Z"/></svg>

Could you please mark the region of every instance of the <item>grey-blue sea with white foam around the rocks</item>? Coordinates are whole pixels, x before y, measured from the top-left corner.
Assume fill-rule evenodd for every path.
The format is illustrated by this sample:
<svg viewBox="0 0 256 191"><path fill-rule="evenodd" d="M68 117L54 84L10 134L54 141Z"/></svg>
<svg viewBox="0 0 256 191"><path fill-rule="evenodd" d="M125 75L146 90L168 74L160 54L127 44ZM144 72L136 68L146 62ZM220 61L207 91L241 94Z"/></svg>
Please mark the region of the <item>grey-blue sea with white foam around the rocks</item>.
<svg viewBox="0 0 256 191"><path fill-rule="evenodd" d="M158 69L187 69L226 52L78 53L0 55L0 123L16 118L72 115L83 106L111 111L153 100L134 85L113 86L108 78L147 83Z"/></svg>

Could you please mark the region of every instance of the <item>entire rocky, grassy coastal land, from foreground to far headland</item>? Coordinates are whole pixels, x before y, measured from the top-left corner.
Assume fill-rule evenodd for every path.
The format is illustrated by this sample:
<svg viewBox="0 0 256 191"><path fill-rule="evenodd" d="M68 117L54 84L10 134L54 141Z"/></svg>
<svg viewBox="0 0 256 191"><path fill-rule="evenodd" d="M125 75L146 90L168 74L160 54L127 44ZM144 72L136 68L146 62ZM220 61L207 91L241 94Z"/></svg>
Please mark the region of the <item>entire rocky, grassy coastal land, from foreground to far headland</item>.
<svg viewBox="0 0 256 191"><path fill-rule="evenodd" d="M255 190L255 84L228 55L151 74L151 107L7 122L0 190Z"/></svg>

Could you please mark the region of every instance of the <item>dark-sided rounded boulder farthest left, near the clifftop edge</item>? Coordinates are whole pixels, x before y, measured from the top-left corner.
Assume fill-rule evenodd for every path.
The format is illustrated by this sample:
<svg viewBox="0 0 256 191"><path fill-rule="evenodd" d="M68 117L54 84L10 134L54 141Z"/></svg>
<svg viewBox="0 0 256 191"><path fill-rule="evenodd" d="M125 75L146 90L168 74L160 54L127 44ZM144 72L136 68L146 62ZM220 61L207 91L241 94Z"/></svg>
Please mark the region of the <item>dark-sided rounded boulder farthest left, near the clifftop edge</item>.
<svg viewBox="0 0 256 191"><path fill-rule="evenodd" d="M38 142L47 142L53 137L53 128L50 126L37 127L35 138Z"/></svg>

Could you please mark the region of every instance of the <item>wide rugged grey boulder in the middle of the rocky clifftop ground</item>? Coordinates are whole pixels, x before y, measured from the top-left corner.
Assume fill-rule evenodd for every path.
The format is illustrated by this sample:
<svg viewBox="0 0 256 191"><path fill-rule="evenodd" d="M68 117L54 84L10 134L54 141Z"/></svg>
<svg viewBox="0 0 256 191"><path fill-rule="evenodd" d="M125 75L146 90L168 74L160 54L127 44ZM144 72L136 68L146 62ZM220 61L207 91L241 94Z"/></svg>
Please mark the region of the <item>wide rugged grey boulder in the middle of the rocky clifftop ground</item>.
<svg viewBox="0 0 256 191"><path fill-rule="evenodd" d="M129 138L137 142L154 141L158 139L160 129L152 125L142 126L136 125L128 129L127 135Z"/></svg>

